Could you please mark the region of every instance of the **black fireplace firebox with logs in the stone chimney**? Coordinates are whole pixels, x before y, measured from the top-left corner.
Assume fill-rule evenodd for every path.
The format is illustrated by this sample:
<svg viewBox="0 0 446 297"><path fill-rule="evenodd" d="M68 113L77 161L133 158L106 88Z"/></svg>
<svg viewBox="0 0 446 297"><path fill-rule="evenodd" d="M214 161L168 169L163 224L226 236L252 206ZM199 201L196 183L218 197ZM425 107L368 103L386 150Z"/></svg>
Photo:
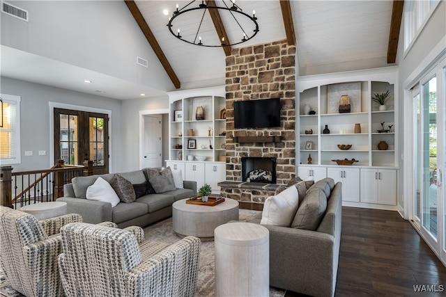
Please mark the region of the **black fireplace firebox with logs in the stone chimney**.
<svg viewBox="0 0 446 297"><path fill-rule="evenodd" d="M276 164L277 158L243 156L242 181L275 184L277 182Z"/></svg>

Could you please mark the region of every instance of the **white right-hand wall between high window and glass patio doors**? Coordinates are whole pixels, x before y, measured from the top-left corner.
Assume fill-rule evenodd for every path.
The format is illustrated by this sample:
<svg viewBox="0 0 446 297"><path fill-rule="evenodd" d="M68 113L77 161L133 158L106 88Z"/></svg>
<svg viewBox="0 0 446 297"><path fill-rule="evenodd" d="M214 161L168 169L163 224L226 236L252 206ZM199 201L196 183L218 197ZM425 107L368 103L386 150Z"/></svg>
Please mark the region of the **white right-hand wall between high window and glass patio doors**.
<svg viewBox="0 0 446 297"><path fill-rule="evenodd" d="M426 57L431 56L431 51L439 42L442 42L446 37L446 3L440 1L440 5L436 8L435 12L429 19L429 22L424 27L422 33L418 36L413 47L404 56L404 20L401 24L399 34L399 44L397 53L397 64L399 65L399 147L401 147L401 154L406 156L404 151L404 136L405 134L412 133L410 127L406 129L404 127L404 111L405 106L408 104L408 98L404 98L405 95L403 84L407 83L411 79L415 79L418 70L422 70ZM443 45L446 48L446 43ZM421 68L420 68L421 66ZM420 73L418 73L420 74ZM406 156L409 157L409 156ZM407 169L409 170L409 169ZM407 171L404 168L404 163L400 162L400 176L399 176L399 204L403 207L403 180L405 175L411 175L412 172Z"/></svg>

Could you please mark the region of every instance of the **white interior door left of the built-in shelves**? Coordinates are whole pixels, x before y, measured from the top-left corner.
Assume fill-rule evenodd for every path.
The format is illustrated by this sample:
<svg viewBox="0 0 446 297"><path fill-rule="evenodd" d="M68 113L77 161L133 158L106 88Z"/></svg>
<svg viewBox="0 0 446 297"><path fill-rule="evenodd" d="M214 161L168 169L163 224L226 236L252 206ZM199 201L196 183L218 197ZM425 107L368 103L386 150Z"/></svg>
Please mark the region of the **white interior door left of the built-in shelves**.
<svg viewBox="0 0 446 297"><path fill-rule="evenodd" d="M162 166L162 116L144 116L143 168Z"/></svg>

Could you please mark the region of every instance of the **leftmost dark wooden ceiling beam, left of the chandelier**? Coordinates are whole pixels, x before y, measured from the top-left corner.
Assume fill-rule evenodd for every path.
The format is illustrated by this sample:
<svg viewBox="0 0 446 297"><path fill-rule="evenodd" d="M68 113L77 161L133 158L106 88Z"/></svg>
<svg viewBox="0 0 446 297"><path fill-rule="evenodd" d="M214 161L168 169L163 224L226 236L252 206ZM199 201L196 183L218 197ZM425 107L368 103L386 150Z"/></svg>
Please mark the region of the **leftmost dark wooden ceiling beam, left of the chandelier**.
<svg viewBox="0 0 446 297"><path fill-rule="evenodd" d="M158 59L162 64L162 67L164 67L164 70L166 70L167 75L169 75L169 78L171 79L172 83L174 83L175 88L181 88L180 80L176 76L174 69L172 69L166 56L164 56L164 52L162 51L160 45L156 41L155 36L153 35L151 29L148 27L146 20L141 14L141 11L139 11L137 4L134 3L134 1L125 1L125 4L127 4L130 13L132 13L134 17L134 20L137 21L139 28L141 28L141 31L144 34L144 36L146 36L148 43L151 45L153 51L155 51L156 56L158 57Z"/></svg>

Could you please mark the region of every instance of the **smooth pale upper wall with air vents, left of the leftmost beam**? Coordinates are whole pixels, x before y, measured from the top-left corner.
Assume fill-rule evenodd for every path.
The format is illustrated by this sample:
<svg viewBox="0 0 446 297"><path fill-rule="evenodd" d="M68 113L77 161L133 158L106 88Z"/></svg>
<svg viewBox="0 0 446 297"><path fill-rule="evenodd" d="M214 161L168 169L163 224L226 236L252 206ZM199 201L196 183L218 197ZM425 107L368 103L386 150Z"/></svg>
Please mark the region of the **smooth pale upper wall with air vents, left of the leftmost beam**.
<svg viewBox="0 0 446 297"><path fill-rule="evenodd" d="M1 45L157 90L175 90L124 1L10 2L28 10L29 22L2 13ZM137 65L137 56L148 60L149 67Z"/></svg>

